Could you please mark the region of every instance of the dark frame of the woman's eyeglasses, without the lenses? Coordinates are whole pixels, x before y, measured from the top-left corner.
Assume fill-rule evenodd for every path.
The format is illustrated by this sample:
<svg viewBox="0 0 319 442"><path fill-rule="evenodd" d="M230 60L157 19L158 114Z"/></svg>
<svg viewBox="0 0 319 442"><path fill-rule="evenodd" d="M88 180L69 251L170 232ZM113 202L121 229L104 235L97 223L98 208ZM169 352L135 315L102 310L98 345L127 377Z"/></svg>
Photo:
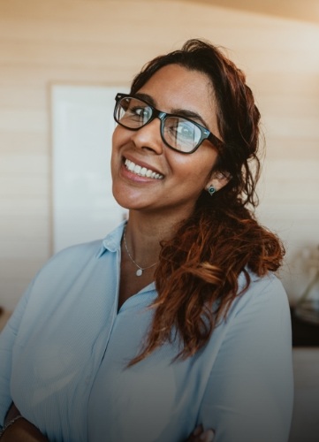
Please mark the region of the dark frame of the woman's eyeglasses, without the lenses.
<svg viewBox="0 0 319 442"><path fill-rule="evenodd" d="M119 105L119 102L123 98L133 98L135 100L139 100L142 103L147 104L147 106L152 110L151 118L149 118L148 121L146 123L144 123L143 125L141 125L140 127L128 127L128 126L125 126L117 118L118 105ZM162 137L162 140L163 140L164 144L168 148L173 149L176 152L179 152L181 154L186 154L186 155L193 154L195 152L195 150L197 150L201 146L201 143L204 140L209 140L216 149L221 149L221 148L224 147L224 142L223 141L219 140L219 138L216 137L216 135L214 135L214 133L211 133L209 131L209 129L207 129L204 126L201 126L199 123L195 122L193 119L186 118L186 117L183 117L181 115L176 115L176 114L172 114L172 113L162 112L161 110L156 109L154 106L152 106L151 104L149 104L148 102L146 102L145 100L140 98L139 96L135 96L133 94L118 93L116 95L116 97L115 97L115 101L116 101L116 105L115 105L115 108L114 108L113 117L114 117L115 121L118 123L118 125L123 126L123 127L125 127L125 129L129 129L130 131L138 131L139 129L141 129L141 127L147 126L148 123L151 123L155 118L159 118L161 120L161 137ZM197 126L200 129L200 131L201 131L201 138L197 142L197 144L195 145L194 149L186 152L185 150L179 150L179 149L173 148L167 141L165 141L165 138L164 138L164 135L163 135L164 122L165 122L166 118L169 118L169 117L183 118L186 121L189 121L190 123L194 124L194 126Z"/></svg>

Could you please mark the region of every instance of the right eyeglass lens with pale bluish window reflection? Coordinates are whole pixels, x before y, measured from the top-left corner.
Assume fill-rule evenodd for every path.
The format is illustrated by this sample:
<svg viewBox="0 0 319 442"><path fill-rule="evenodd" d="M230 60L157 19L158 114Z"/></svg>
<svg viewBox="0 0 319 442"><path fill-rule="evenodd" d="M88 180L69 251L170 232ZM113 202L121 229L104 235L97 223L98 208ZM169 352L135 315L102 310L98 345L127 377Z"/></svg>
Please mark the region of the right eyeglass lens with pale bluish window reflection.
<svg viewBox="0 0 319 442"><path fill-rule="evenodd" d="M163 138L171 148L191 152L201 141L201 129L191 120L167 117L163 126Z"/></svg>

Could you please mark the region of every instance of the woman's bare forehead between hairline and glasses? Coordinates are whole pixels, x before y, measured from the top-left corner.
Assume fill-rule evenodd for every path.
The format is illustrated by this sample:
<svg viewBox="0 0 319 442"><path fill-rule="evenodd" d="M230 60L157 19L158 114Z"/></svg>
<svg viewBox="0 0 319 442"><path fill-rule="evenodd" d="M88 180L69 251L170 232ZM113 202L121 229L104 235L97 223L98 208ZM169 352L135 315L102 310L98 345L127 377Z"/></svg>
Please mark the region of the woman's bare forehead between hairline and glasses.
<svg viewBox="0 0 319 442"><path fill-rule="evenodd" d="M181 65L166 65L156 71L138 91L152 97L161 110L215 111L214 88L209 76Z"/></svg>

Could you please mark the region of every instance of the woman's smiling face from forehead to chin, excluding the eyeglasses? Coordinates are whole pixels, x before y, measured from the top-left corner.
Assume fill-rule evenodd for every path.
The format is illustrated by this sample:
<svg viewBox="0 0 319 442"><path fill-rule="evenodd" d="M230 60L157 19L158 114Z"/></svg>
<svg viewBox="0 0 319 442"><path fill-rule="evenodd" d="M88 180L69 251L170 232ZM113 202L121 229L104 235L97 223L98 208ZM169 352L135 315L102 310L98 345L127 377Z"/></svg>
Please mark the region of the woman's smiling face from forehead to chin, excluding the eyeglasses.
<svg viewBox="0 0 319 442"><path fill-rule="evenodd" d="M158 110L197 114L198 117L192 117L194 121L219 135L214 91L206 74L180 65L167 65L138 94ZM113 194L126 209L156 211L167 216L174 213L182 219L193 211L202 189L211 182L210 171L217 151L206 140L193 154L176 152L163 143L160 124L159 118L155 118L137 131L116 127L111 157ZM130 169L126 160L131 162L128 162ZM132 170L134 164L156 172L156 176L138 175Z"/></svg>

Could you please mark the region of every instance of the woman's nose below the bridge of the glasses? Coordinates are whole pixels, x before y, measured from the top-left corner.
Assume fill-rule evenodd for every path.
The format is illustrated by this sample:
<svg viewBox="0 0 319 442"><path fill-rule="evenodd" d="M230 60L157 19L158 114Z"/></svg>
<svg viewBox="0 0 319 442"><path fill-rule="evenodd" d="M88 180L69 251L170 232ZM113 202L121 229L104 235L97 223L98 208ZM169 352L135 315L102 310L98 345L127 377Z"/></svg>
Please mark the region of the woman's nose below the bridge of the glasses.
<svg viewBox="0 0 319 442"><path fill-rule="evenodd" d="M146 126L141 127L132 135L132 141L139 149L154 151L157 155L163 153L163 141L161 137L161 120L154 118Z"/></svg>

